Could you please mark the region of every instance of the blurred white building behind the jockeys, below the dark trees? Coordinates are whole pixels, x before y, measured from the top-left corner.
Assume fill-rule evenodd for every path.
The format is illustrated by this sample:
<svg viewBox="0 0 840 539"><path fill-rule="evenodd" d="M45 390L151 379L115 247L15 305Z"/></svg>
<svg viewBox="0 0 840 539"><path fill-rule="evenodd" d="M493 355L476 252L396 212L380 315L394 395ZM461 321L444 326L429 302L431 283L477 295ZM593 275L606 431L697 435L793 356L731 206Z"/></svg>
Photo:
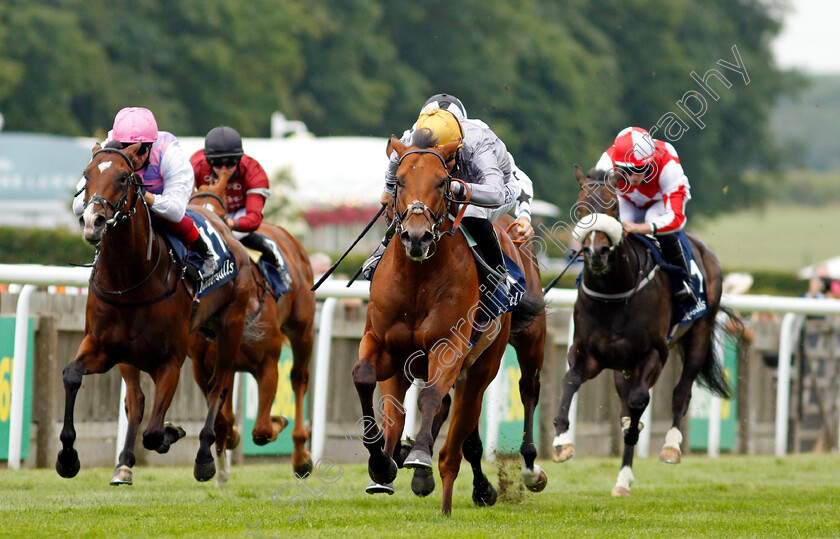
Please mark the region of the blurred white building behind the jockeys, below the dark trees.
<svg viewBox="0 0 840 539"><path fill-rule="evenodd" d="M303 222L290 231L304 246L310 251L343 252L379 210L387 139L314 137L300 122L273 120L276 138L246 138L245 153L265 168L274 196L285 196L301 210ZM204 147L203 137L179 140L187 156ZM95 142L0 133L0 225L76 229L78 219L70 205ZM275 185L273 180L280 175L290 176L292 185ZM559 213L540 201L533 209L548 216ZM380 221L354 252L372 251L383 232Z"/></svg>

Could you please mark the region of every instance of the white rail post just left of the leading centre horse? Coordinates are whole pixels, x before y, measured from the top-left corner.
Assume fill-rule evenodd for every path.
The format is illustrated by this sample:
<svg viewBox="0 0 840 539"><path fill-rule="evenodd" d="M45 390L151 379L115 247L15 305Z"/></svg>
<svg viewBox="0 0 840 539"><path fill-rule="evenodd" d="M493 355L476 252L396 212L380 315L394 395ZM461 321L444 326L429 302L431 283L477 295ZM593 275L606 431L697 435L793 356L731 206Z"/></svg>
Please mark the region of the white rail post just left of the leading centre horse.
<svg viewBox="0 0 840 539"><path fill-rule="evenodd" d="M312 460L324 456L327 439L327 391L330 384L330 352L332 347L332 320L338 299L324 300L321 322L318 327L318 354L315 357L315 387L312 398Z"/></svg>

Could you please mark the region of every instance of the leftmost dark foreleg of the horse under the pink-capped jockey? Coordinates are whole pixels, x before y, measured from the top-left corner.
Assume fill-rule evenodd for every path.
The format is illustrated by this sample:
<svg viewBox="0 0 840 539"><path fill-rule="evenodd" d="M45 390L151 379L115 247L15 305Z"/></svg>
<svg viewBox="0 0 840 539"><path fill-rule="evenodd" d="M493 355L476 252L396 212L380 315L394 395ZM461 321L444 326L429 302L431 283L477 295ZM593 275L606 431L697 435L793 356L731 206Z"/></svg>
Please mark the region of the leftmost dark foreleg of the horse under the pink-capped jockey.
<svg viewBox="0 0 840 539"><path fill-rule="evenodd" d="M59 435L61 450L58 452L58 458L55 463L55 471L61 477L68 479L75 477L79 473L79 468L81 468L79 454L73 448L73 443L76 441L76 429L73 426L73 411L76 407L76 395L79 392L79 388L82 387L82 376L85 373L105 372L111 366L112 364L108 363L107 358L99 352L98 345L94 339L88 335L85 336L82 344L79 345L76 359L68 363L62 371L65 395L64 425Z"/></svg>

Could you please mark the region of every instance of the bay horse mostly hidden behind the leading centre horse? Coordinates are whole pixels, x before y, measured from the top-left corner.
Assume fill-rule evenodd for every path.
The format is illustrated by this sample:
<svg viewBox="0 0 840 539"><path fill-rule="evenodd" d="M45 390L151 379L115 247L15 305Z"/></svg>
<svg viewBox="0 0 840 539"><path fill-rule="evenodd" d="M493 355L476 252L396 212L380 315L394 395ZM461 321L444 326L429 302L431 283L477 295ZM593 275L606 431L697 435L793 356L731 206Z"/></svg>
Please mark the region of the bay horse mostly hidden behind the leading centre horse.
<svg viewBox="0 0 840 539"><path fill-rule="evenodd" d="M503 215L495 221L495 224L502 230L509 231L518 223L509 215ZM513 240L519 251L520 260L522 261L522 270L526 277L526 293L531 297L540 297L542 291L540 283L542 278L540 275L539 263L533 251L533 247L524 241ZM534 411L540 398L540 372L542 371L544 351L546 338L546 319L545 309L542 309L533 319L532 323L527 327L520 329L518 332L511 332L508 340L516 351L516 359L519 362L520 378L519 378L519 397L522 400L524 411L524 425L522 435L522 445L519 453L522 455L522 482L525 487L532 492L542 492L548 484L548 477L545 471L535 464L537 458L537 449L534 445ZM380 392L383 395L393 395L400 391L397 377L403 377L403 373L390 378L389 380L379 383ZM405 390L402 390L403 392ZM449 407L451 398L449 394L444 396L443 406L432 424L432 435L437 439L440 428L449 414ZM393 459L399 467L403 465L408 452L411 450L411 445L403 442L398 443L402 437L402 430L396 431L391 418L397 416L404 416L405 409L399 403L393 402L391 399L384 399L382 402L382 415L388 420L383 421L384 430L384 444L385 451L392 455ZM401 423L404 425L405 418L402 417ZM404 429L403 429L404 430ZM470 436L464 443L464 458L470 463L473 471L473 501L477 505L493 505L496 500L496 492L493 485L487 481L481 469L481 456L484 453L481 438L478 431L474 436ZM434 475L426 469L415 468L414 477L411 481L411 490L418 496L428 496L435 488ZM376 493L393 493L393 489L388 485L379 485L371 483L368 485L367 492L370 494Z"/></svg>

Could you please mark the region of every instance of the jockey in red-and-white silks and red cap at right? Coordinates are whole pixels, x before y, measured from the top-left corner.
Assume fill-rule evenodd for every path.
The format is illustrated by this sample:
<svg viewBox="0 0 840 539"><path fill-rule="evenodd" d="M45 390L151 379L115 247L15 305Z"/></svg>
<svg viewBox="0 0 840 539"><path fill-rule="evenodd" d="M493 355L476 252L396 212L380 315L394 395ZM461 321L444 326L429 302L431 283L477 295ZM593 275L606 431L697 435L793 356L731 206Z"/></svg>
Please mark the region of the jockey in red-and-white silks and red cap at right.
<svg viewBox="0 0 840 539"><path fill-rule="evenodd" d="M625 232L656 236L666 261L683 268L688 276L677 300L696 302L689 284L691 268L679 241L691 193L677 150L651 138L645 129L627 127L595 168L617 176L618 213Z"/></svg>

